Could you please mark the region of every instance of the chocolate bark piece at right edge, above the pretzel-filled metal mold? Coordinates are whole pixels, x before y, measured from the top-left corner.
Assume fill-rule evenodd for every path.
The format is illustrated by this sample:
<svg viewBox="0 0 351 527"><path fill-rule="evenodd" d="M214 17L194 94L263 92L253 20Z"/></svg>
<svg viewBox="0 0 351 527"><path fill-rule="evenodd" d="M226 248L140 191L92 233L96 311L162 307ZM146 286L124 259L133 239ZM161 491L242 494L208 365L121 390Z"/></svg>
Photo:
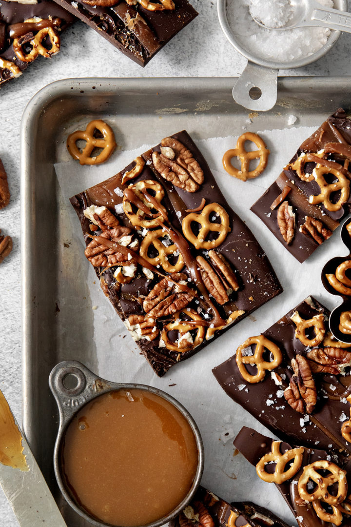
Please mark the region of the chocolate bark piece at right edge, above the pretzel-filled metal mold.
<svg viewBox="0 0 351 527"><path fill-rule="evenodd" d="M286 168L277 180L270 185L263 196L250 208L299 262L304 262L319 245L322 245L351 210L350 173L346 170L348 169L349 160L351 160L351 149L348 152L346 148L347 155L344 155L333 151L329 152L330 148L328 149L326 146L330 143L337 143L344 147L345 150L345 147L351 145L350 130L351 119L343 109L338 109L300 145L294 157L287 163ZM326 151L323 154L322 151L324 149ZM336 148L336 150L338 149L339 147ZM335 150L335 148L331 150ZM315 161L308 160L308 154L314 155L312 159L315 161L317 161L315 158L316 154L321 155L321 157L323 154L325 160L320 162L324 163L326 161L327 165L326 167L322 166L322 172L324 168L333 169L333 165L335 165L334 168L338 169L342 174L341 178L345 178L346 199L339 203L336 210L331 210L333 207L325 200L315 204L310 202L314 201L314 197L321 193L322 187L319 186L313 175L314 169L318 165ZM292 168L292 164L297 159L303 159L300 165L301 168L298 171ZM298 168L297 165L294 166ZM299 177L298 172L302 174L302 178ZM336 173L328 173L328 170L325 173L321 173L320 178L322 179L319 182L323 185L323 181L325 182L330 202L334 205L341 196L341 189L337 186L335 187L335 183L339 181L339 178ZM310 180L308 181L308 179ZM332 187L333 184L334 187ZM331 186L328 187L329 185ZM270 208L272 203L287 187L290 190L284 199L293 207L293 213L295 213L295 236L289 245L283 239L278 225L277 214L279 206L277 205L273 210ZM333 190L334 188L336 189L335 191Z"/></svg>

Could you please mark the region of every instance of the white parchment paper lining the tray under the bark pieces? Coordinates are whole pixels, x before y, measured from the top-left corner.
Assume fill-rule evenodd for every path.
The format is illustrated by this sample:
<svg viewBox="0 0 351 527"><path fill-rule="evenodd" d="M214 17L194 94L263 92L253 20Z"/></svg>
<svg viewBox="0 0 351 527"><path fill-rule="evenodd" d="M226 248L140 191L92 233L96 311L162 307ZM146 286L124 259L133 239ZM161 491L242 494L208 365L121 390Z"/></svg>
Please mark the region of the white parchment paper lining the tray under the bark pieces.
<svg viewBox="0 0 351 527"><path fill-rule="evenodd" d="M266 251L284 292L198 354L171 368L161 379L139 355L139 348L128 335L128 331L99 287L93 267L84 257L81 225L68 201L74 194L119 172L137 155L153 145L141 145L135 150L115 152L111 160L100 166L81 167L77 161L55 165L62 192L61 213L67 214L71 219L70 228L67 228L63 236L69 240L67 245L72 253L74 247L79 246L78 257L72 258L72 261L66 257L64 272L70 276L74 270L74 276L79 273L86 284L86 296L81 306L82 326L86 324L86 318L91 316L93 310L91 336L86 338L81 356L76 358L84 362L85 353L87 357L96 353L96 373L100 376L115 382L137 382L157 386L176 397L193 415L202 433L205 447L202 484L229 502L251 500L266 506L292 525L296 525L293 515L274 484L260 481L255 467L242 455L234 456L233 437L242 426L252 426L263 433L267 433L266 429L223 392L211 370L234 355L237 346L247 337L262 333L308 295L315 296L329 308L336 305L335 297L329 295L322 286L320 272L328 259L347 254L347 249L339 239L339 231L323 243L323 247L317 249L304 264L299 264L249 210L269 184L277 178L299 144L314 130L315 128L290 127L285 130L258 132L271 152L268 167L257 179L246 182L231 177L222 167L223 153L229 148L235 148L237 137L195 141L229 205L252 229ZM61 292L66 302L74 304L77 301L74 287ZM65 340L64 336L62 339L63 345L67 346L67 339ZM76 346L77 343L72 341L71 344ZM298 418L296 414L296 419Z"/></svg>

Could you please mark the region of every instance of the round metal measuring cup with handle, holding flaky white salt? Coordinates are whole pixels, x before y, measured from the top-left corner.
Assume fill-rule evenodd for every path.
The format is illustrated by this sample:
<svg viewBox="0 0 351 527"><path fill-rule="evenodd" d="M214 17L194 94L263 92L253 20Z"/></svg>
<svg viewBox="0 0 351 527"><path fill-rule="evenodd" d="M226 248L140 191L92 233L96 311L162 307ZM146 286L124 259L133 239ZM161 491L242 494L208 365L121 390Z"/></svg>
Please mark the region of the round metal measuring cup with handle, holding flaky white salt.
<svg viewBox="0 0 351 527"><path fill-rule="evenodd" d="M347 0L334 0L334 7L347 11ZM265 60L251 53L240 44L229 25L227 17L227 0L217 0L217 13L220 27L230 44L247 58L247 65L233 87L235 102L249 110L266 111L273 108L277 102L278 71L307 66L323 57L334 46L341 31L330 30L327 42L312 55L293 60L290 63L280 63ZM258 27L258 26L257 26Z"/></svg>

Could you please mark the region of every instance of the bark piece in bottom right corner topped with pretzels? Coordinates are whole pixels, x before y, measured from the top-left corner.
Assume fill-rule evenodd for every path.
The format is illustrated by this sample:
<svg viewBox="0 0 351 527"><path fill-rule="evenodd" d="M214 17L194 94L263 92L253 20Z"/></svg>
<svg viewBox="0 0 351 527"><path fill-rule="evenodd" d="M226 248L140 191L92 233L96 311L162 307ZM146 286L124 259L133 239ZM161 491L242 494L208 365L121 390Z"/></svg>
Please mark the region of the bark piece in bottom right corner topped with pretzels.
<svg viewBox="0 0 351 527"><path fill-rule="evenodd" d="M299 527L351 525L349 456L278 442L246 426L234 445L264 485L276 484Z"/></svg>

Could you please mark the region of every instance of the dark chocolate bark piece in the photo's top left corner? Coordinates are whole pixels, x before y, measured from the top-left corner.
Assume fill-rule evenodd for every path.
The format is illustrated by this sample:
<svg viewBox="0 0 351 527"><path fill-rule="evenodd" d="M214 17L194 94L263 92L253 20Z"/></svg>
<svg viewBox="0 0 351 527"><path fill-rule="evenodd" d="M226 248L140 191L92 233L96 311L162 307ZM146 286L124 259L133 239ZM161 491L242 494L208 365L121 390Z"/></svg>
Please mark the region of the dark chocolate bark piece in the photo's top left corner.
<svg viewBox="0 0 351 527"><path fill-rule="evenodd" d="M47 20L58 35L61 35L62 31L76 20L75 16L51 0L38 0L37 4L1 2L0 85L20 75L33 62L25 62L17 57L13 48L13 41L17 37L21 40L22 44L28 45L27 51L31 49L32 45L30 44L30 40L32 40L37 31L34 30L34 27L29 31L28 26L23 23L35 17ZM59 19L59 22L57 19ZM53 23L53 21L55 22ZM48 37L44 38L43 45L48 49L51 48L51 44L48 43ZM40 53L38 56L40 56Z"/></svg>

